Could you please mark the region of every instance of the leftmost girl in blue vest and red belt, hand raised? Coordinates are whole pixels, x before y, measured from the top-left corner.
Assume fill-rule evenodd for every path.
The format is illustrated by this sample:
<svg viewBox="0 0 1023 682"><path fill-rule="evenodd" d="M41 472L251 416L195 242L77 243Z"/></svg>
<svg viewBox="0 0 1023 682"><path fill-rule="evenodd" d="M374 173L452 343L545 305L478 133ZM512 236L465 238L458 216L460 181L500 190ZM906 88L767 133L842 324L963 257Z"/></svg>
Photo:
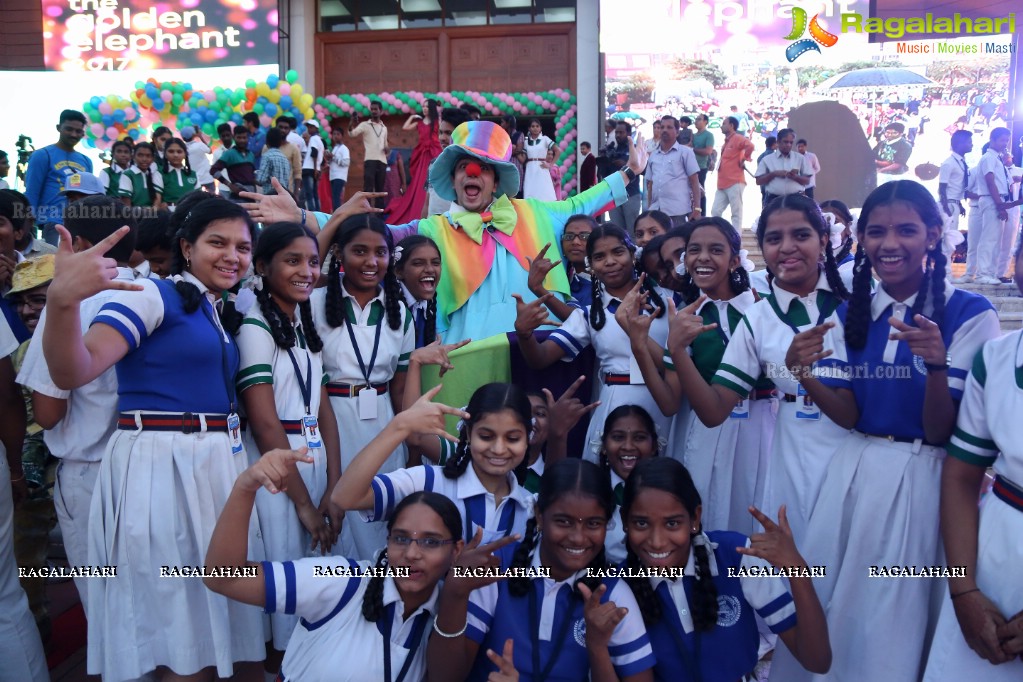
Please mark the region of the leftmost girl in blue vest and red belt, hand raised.
<svg viewBox="0 0 1023 682"><path fill-rule="evenodd" d="M114 261L101 256L124 229L81 254L58 229L46 361L66 390L116 365L121 410L92 503L89 563L116 565L118 576L89 586L89 673L230 677L234 664L265 655L259 610L212 595L194 579L160 574L204 563L244 469L232 337L241 315L227 294L249 268L255 228L235 203L197 201L174 242L176 281L135 283L112 281ZM107 288L125 290L83 337L79 304ZM248 531L254 540L255 519ZM243 668L259 674L258 663Z"/></svg>

